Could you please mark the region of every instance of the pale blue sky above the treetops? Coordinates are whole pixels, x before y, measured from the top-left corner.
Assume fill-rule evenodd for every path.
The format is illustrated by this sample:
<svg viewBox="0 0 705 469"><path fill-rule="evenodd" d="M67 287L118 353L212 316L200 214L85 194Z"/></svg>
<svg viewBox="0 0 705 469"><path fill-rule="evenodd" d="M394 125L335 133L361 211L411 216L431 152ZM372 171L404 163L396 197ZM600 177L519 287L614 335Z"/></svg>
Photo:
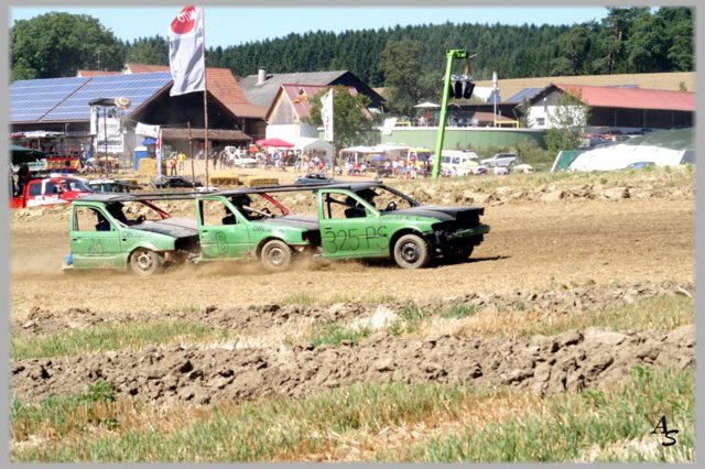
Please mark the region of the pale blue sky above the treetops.
<svg viewBox="0 0 705 469"><path fill-rule="evenodd" d="M380 2L380 3L383 3ZM46 6L10 7L10 25L52 11L88 14L122 41L151 37L166 32L178 11L174 7L96 8ZM205 7L206 46L239 45L246 42L283 37L308 31L377 30L410 24L487 23L487 24L565 24L600 21L605 7Z"/></svg>

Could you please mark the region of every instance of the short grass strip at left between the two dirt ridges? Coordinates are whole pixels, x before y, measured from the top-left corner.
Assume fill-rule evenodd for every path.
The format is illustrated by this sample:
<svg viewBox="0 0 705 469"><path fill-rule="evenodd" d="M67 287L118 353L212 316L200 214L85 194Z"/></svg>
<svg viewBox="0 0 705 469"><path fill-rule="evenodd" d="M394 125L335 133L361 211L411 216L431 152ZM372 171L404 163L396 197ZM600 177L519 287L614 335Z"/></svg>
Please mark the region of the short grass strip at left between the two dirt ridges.
<svg viewBox="0 0 705 469"><path fill-rule="evenodd" d="M14 360L74 357L108 350L140 348L176 340L223 339L223 334L203 321L160 321L107 324L42 337L12 336L10 353Z"/></svg>

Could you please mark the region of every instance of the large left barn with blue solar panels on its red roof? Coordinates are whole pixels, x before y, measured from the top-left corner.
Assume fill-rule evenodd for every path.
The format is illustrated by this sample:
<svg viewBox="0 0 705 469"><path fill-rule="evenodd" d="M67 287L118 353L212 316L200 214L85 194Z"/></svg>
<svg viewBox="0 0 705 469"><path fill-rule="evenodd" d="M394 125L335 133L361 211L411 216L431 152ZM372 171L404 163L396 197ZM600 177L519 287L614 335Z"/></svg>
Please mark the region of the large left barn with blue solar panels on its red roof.
<svg viewBox="0 0 705 469"><path fill-rule="evenodd" d="M231 72L207 68L206 78L209 146L241 145L263 138L264 109L247 100ZM80 70L76 77L18 80L10 86L11 132L18 138L50 133L56 141L70 139L73 146L107 151L129 163L144 140L134 132L139 123L160 126L164 145L187 153L191 126L197 154L205 142L203 94L170 96L172 83L167 66L134 64L121 74ZM130 106L89 105L117 97L127 98Z"/></svg>

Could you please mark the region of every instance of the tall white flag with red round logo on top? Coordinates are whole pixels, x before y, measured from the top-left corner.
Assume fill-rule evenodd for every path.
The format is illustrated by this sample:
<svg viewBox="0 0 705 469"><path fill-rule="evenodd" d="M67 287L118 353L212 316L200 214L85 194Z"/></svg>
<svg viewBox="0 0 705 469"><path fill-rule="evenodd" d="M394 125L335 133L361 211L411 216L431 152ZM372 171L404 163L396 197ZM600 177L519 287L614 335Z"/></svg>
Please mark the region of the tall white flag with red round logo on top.
<svg viewBox="0 0 705 469"><path fill-rule="evenodd" d="M206 89L203 9L184 7L169 29L169 65L174 78L171 96Z"/></svg>

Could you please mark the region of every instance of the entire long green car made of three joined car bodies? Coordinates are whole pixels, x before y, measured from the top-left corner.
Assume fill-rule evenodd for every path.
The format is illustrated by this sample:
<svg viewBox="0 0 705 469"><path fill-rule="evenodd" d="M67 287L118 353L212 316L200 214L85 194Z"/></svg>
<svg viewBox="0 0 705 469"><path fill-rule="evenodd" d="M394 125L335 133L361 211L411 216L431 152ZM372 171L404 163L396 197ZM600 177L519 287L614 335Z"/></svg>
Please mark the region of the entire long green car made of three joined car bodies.
<svg viewBox="0 0 705 469"><path fill-rule="evenodd" d="M314 214L291 214L278 193L314 197ZM160 199L188 198L195 219L174 218ZM132 206L123 215L126 204ZM270 186L187 195L95 194L72 205L66 270L131 269L149 275L185 262L258 260L269 271L295 258L387 258L404 269L433 258L466 260L489 232L481 207L421 205L381 183Z"/></svg>

